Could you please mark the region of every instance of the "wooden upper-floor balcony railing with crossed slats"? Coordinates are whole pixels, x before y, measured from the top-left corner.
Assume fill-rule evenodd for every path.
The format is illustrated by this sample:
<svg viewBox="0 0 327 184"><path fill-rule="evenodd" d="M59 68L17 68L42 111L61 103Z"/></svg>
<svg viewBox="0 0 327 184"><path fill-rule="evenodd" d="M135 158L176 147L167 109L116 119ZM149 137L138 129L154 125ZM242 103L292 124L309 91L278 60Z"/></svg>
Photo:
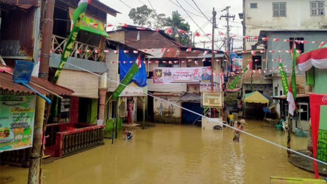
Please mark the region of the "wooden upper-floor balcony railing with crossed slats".
<svg viewBox="0 0 327 184"><path fill-rule="evenodd" d="M67 38L52 35L51 52L56 54L62 54L66 42ZM74 58L81 58L99 62L103 62L105 60L105 53L103 49L81 42L74 43L74 47L70 56Z"/></svg>

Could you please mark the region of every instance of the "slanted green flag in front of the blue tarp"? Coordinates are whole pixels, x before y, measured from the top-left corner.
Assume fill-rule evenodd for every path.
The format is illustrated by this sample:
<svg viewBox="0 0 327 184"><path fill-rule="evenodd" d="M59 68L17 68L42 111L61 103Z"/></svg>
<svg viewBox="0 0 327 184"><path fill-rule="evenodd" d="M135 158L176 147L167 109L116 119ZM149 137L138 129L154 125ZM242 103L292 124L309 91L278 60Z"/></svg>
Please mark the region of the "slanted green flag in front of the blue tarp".
<svg viewBox="0 0 327 184"><path fill-rule="evenodd" d="M119 86L117 89L114 91L112 94L112 98L116 100L118 96L124 91L126 86L131 82L133 79L134 75L139 71L139 68L141 68L141 57L137 57L136 62L132 65L132 67L129 69L129 71L126 73L125 77L123 80L120 82Z"/></svg>

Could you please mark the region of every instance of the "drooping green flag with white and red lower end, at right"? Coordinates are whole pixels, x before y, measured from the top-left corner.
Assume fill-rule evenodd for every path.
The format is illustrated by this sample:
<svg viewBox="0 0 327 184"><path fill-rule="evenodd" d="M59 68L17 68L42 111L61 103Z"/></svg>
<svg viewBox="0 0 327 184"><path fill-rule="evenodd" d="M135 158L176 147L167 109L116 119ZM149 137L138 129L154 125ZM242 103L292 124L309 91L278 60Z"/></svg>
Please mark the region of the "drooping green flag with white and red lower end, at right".
<svg viewBox="0 0 327 184"><path fill-rule="evenodd" d="M291 77L291 80L289 82L288 94L287 94L288 113L290 115L292 115L292 116L294 115L294 110L296 109L296 106L295 106L295 99L296 99L295 67L296 67L296 49L295 49L295 44L293 44L292 77Z"/></svg>

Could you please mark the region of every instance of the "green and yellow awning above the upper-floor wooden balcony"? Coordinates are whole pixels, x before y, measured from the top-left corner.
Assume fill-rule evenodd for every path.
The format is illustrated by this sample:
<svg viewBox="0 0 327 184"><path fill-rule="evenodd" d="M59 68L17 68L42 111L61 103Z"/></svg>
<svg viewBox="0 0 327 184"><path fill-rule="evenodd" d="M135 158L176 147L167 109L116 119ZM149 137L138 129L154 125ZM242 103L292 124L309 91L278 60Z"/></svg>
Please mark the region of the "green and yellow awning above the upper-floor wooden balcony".
<svg viewBox="0 0 327 184"><path fill-rule="evenodd" d="M69 8L69 16L70 16L71 20L73 20L74 11L75 11L75 9ZM90 25L90 23L94 23L94 24ZM80 29L90 32L90 33L108 37L108 34L104 27L104 24L100 20L91 18L87 15L84 16Z"/></svg>

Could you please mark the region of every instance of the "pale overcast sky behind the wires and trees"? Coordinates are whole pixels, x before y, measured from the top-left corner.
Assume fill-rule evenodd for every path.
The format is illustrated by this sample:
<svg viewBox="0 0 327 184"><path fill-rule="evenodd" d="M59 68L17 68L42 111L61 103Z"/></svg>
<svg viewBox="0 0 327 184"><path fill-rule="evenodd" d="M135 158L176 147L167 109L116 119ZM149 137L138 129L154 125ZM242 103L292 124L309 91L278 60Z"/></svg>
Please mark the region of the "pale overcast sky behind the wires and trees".
<svg viewBox="0 0 327 184"><path fill-rule="evenodd" d="M126 23L126 24L132 24L133 21L129 19L128 13L131 10L131 8L137 8L141 7L144 4L147 5L149 8L151 8L149 2L152 4L153 8L157 11L157 13L162 13L166 14L166 16L171 16L171 13L173 11L178 11L182 17L188 22L188 24L191 27L191 31L194 33L198 31L201 35L203 33L199 30L199 28L196 26L200 26L205 33L211 33L211 24L208 24L208 21L202 14L200 14L197 11L196 6L192 2L192 0L178 0L178 2L182 5L182 7L194 14L190 14L190 17L195 21L195 23L191 20L190 17L187 16L187 14L184 12L183 9L177 7L173 3L171 3L168 0L121 0L124 2L126 5L124 5L121 1L119 0L100 0L107 6L117 10L121 14L118 14L117 17L113 16L108 16L108 23L118 25L119 23ZM172 0L172 2L176 3L176 0ZM198 5L198 7L201 9L201 11L209 18L211 19L212 17L212 8L214 7L215 10L217 11L217 24L218 24L218 29L216 29L215 34L216 34L216 39L220 39L220 36L218 35L218 32L223 32L226 33L226 21L225 19L219 20L221 15L224 15L226 12L221 12L222 9L224 9L226 6L230 6L231 8L229 9L229 12L231 15L235 15L235 20L231 20L233 22L230 22L231 28L231 34L238 35L239 38L234 41L234 48L235 47L240 47L242 45L242 39L240 38L242 36L242 27L241 27L241 20L238 17L238 13L242 12L242 0L229 0L229 1L221 1L221 0L214 0L214 1L209 1L209 0L194 0L194 2ZM143 4L144 3L144 4ZM191 6L190 6L191 5ZM129 6L129 7L128 7ZM203 27L202 27L203 26ZM211 36L210 36L211 37ZM221 40L221 39L220 39ZM195 37L195 43L197 47L203 47L203 43L200 43L200 41L209 41L208 38L206 37ZM218 46L221 45L221 42L217 43ZM210 43L206 43L205 47L211 47ZM224 49L222 49L224 50Z"/></svg>

